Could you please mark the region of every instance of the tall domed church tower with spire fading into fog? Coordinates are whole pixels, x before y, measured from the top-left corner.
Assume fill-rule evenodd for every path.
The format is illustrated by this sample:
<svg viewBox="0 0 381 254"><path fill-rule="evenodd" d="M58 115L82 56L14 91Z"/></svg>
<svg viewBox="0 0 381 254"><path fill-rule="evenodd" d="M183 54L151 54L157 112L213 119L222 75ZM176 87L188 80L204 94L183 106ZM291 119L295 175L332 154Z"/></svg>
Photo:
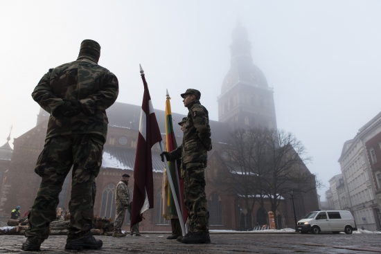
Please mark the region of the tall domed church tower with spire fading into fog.
<svg viewBox="0 0 381 254"><path fill-rule="evenodd" d="M247 29L237 21L231 33L231 67L218 96L218 119L233 129L267 127L276 129L273 89L254 65Z"/></svg>

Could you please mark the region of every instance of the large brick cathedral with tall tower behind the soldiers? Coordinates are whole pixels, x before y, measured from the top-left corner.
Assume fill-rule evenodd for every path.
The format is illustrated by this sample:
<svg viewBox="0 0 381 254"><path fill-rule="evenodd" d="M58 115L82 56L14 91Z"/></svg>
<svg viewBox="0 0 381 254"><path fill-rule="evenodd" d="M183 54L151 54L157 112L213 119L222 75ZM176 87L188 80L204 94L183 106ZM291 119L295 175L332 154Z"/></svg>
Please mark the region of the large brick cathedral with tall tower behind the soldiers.
<svg viewBox="0 0 381 254"><path fill-rule="evenodd" d="M244 202L240 199L240 194L222 192L219 188L221 183L218 181L221 170L224 170L223 160L225 159L224 154L220 152L220 147L233 129L249 126L276 129L273 91L267 86L265 75L253 63L251 46L247 38L247 30L238 22L232 33L231 69L224 78L222 93L218 97L219 120L210 121L213 149L208 153L205 177L211 229L252 230L248 227L248 220L252 221L252 225L257 223L263 225L269 222L267 217L263 217L271 209L269 201L265 201L264 208L260 208L257 202L252 214L249 214ZM116 102L107 109L109 125L103 163L96 178L95 215L114 218L116 184L122 174L127 173L131 176L128 187L132 197L140 112L140 105L121 102ZM165 111L155 110L155 114L163 142L165 142ZM174 123L180 122L183 117L184 115L172 113ZM15 138L9 170L3 173L3 184L0 186L0 214L8 214L15 206L21 206L21 213L24 213L33 204L40 182L34 167L44 147L47 120L48 114L40 109L37 125ZM181 129L177 124L174 124L174 127L177 144L181 144L183 136ZM144 212L145 219L141 222L141 231L171 230L169 221L162 217L161 187L164 165L159 154L159 145L156 144L152 147L154 208ZM303 170L310 174L307 167ZM62 186L59 207L66 209L69 207L70 186L71 174L69 173ZM299 198L296 197L295 202L298 217L319 208L316 190ZM275 215L278 228L293 227L292 216L290 197L282 197ZM130 215L127 212L123 230L129 229Z"/></svg>

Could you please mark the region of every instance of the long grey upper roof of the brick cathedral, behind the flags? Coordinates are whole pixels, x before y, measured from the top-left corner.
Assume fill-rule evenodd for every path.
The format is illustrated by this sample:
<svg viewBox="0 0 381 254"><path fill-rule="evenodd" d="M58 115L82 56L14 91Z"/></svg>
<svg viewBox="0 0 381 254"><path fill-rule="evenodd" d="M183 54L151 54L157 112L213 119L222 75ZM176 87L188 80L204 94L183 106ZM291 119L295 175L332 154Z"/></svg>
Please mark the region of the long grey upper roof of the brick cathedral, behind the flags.
<svg viewBox="0 0 381 254"><path fill-rule="evenodd" d="M121 127L127 129L138 129L139 118L141 112L141 106L131 105L127 103L115 102L112 107L107 109L107 117L109 118L109 126ZM166 133L166 111L154 109L154 113L159 124L161 134ZM181 121L186 115L177 114L172 112L173 128L175 136L182 137L182 131L178 127L177 123ZM133 123L135 122L135 124ZM209 122L211 126L211 138L213 143L224 142L227 134L231 132L229 123L222 123L211 120Z"/></svg>

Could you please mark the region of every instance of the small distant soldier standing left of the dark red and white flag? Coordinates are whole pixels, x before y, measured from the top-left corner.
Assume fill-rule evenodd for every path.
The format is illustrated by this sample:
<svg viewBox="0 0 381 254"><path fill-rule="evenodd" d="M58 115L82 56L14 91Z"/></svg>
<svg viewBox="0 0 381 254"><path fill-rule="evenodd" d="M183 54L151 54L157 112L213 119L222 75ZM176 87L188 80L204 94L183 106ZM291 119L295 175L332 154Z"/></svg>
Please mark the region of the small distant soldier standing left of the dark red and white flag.
<svg viewBox="0 0 381 254"><path fill-rule="evenodd" d="M114 221L114 233L112 234L113 237L125 237L125 234L122 233L122 225L125 219L125 210L128 209L128 203L130 203L130 191L127 187L129 180L130 175L123 174L121 181L116 185L116 216Z"/></svg>

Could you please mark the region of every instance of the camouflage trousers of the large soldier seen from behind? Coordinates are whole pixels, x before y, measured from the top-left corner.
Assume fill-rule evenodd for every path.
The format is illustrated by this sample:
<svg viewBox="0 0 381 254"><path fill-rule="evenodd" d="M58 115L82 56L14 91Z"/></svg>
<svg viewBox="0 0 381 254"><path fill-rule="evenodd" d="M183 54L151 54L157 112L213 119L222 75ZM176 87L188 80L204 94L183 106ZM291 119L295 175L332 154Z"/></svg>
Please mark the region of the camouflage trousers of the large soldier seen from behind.
<svg viewBox="0 0 381 254"><path fill-rule="evenodd" d="M96 134L46 138L35 167L42 181L28 215L29 227L25 231L28 241L41 243L48 238L49 224L55 219L55 208L60 202L58 196L72 166L67 242L89 235L94 218L95 178L102 163L103 144L102 136Z"/></svg>

